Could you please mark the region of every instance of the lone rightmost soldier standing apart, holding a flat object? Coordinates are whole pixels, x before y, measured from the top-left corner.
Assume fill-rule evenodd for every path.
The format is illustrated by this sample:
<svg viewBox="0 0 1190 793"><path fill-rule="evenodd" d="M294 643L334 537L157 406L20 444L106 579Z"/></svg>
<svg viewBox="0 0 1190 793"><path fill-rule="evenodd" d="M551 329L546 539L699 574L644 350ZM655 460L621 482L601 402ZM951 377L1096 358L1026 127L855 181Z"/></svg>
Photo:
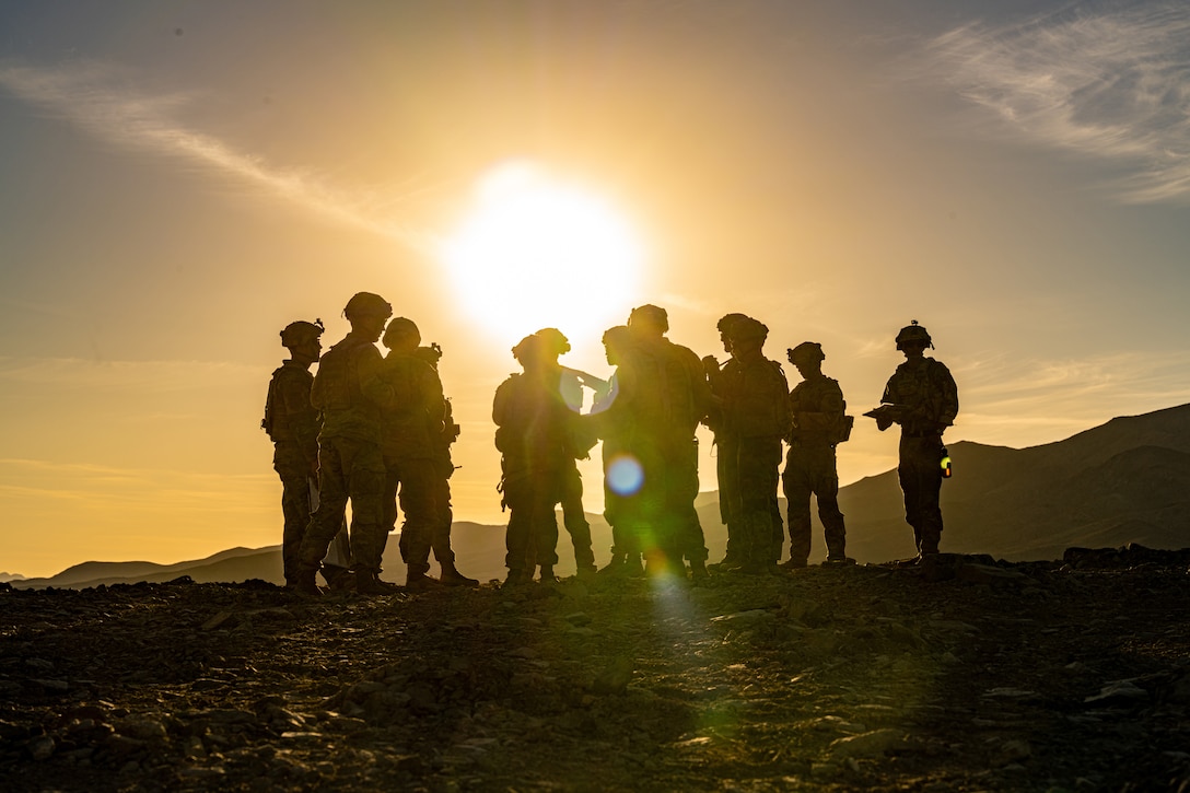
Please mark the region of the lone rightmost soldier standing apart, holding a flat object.
<svg viewBox="0 0 1190 793"><path fill-rule="evenodd" d="M941 362L925 356L933 339L914 319L896 335L896 349L904 363L884 387L881 406L864 413L876 419L881 431L901 425L897 476L904 493L904 519L913 526L917 556L938 552L942 535L942 432L959 412L958 386Z"/></svg>

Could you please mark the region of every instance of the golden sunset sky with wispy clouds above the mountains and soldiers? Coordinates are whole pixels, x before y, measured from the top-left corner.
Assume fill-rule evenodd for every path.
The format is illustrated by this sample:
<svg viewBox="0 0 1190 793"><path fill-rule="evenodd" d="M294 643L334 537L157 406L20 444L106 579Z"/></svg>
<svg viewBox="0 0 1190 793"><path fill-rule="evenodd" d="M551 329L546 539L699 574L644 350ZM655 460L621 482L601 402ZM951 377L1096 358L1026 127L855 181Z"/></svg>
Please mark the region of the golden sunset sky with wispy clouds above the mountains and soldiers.
<svg viewBox="0 0 1190 793"><path fill-rule="evenodd" d="M0 0L0 570L280 543L277 333L359 291L443 346L494 525L512 345L606 376L645 302L820 342L857 416L916 319L952 442L1180 405L1188 207L1182 2ZM895 464L860 418L841 481Z"/></svg>

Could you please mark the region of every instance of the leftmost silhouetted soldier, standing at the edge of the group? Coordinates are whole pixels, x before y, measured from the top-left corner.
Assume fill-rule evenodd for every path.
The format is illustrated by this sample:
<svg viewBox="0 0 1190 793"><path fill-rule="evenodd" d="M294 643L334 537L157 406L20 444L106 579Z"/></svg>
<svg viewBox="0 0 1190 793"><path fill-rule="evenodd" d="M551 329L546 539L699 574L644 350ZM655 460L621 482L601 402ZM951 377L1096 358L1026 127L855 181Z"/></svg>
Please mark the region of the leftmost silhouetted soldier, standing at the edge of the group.
<svg viewBox="0 0 1190 793"><path fill-rule="evenodd" d="M298 547L309 523L311 494L318 488L318 411L309 404L314 375L309 373L322 354L322 321L295 321L281 331L281 345L289 350L269 381L261 427L274 443L273 468L281 476L281 560L286 583L298 572Z"/></svg>

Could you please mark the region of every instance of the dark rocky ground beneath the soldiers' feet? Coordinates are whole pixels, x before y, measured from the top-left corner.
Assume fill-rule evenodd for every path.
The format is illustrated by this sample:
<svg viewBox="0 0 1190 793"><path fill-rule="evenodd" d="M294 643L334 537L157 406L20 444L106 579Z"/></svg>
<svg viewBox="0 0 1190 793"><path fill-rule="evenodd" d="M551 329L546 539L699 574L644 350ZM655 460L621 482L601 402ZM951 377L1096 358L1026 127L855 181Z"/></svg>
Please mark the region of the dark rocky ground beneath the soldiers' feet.
<svg viewBox="0 0 1190 793"><path fill-rule="evenodd" d="M1190 554L0 588L10 791L1190 791Z"/></svg>

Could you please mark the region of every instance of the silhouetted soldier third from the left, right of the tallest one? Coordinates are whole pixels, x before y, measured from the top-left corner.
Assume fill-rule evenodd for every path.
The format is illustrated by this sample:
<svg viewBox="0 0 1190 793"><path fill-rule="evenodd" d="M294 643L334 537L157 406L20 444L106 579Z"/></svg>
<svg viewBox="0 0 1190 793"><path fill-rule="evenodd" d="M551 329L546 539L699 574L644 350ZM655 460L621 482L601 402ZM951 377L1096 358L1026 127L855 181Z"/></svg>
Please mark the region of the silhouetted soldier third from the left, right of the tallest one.
<svg viewBox="0 0 1190 793"><path fill-rule="evenodd" d="M397 317L392 320L384 331L383 343L389 349L383 376L396 396L396 402L382 416L381 449L386 469L383 524L386 533L395 529L400 491L401 511L405 512L400 548L408 570L405 586L418 591L439 583L477 585L478 581L455 569L453 554L450 558L438 560L443 569L440 581L426 575L433 535L440 530L444 508L437 498L441 487L436 469L438 449L434 442L443 435L446 399L438 371L418 355L421 331L412 319Z"/></svg>

